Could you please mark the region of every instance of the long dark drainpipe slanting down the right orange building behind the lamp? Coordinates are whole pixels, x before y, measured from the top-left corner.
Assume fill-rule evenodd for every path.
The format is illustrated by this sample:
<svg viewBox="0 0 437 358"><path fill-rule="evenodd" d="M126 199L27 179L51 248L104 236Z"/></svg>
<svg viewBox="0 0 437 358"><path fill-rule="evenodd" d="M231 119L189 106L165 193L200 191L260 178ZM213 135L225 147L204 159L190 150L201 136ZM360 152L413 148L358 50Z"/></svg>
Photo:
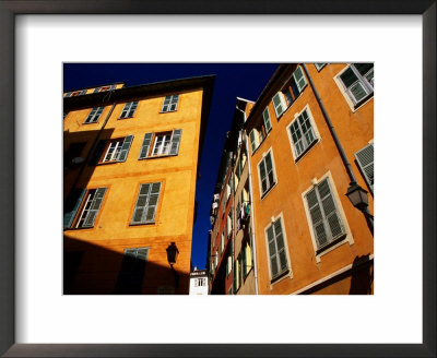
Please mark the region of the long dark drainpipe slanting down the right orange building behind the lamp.
<svg viewBox="0 0 437 358"><path fill-rule="evenodd" d="M349 178L351 180L350 188L358 187L358 183L356 181L354 172L352 171L352 165L349 162L346 154L344 153L343 146L342 146L342 144L340 142L339 136L336 135L334 127L332 126L331 119L330 119L330 117L329 117L329 115L327 112L327 109L324 108L323 102L321 100L321 98L319 96L319 93L316 90L316 86L315 86L315 84L312 82L311 76L309 75L307 67L305 65L305 63L302 63L302 65L304 68L305 74L308 77L308 81L309 81L309 84L310 84L310 86L312 88L312 92L316 95L317 103L319 104L319 107L320 107L320 109L321 109L321 111L323 114L324 120L327 121L328 128L329 128L329 130L331 132L331 135L332 135L332 138L334 140L335 146L340 152L340 156L341 156L341 158L343 160L344 167L345 167L345 169L347 171L347 175L349 175ZM368 224L368 226L370 228L371 235L374 235L374 216L369 213L367 206L364 207L364 208L361 208L361 211L363 212L364 216L366 217L366 220L367 220L367 224Z"/></svg>

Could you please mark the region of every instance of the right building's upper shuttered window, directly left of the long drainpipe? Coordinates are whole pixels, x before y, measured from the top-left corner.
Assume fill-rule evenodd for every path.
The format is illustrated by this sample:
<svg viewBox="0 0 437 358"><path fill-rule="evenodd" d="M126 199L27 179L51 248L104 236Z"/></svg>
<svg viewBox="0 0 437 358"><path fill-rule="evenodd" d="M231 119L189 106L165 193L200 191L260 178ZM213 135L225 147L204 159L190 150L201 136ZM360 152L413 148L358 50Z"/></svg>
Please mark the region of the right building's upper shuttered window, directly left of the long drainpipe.
<svg viewBox="0 0 437 358"><path fill-rule="evenodd" d="M295 159L298 159L317 141L311 120L305 109L288 127Z"/></svg>

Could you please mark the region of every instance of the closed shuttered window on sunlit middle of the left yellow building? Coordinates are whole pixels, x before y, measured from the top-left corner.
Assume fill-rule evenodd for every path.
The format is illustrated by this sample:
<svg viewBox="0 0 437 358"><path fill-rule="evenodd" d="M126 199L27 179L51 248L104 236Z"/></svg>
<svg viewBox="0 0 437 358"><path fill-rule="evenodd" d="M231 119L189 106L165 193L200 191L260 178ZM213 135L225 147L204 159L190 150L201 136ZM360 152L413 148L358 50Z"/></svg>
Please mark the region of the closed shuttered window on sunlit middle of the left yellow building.
<svg viewBox="0 0 437 358"><path fill-rule="evenodd" d="M161 182L141 184L133 211L132 225L155 223L160 190Z"/></svg>

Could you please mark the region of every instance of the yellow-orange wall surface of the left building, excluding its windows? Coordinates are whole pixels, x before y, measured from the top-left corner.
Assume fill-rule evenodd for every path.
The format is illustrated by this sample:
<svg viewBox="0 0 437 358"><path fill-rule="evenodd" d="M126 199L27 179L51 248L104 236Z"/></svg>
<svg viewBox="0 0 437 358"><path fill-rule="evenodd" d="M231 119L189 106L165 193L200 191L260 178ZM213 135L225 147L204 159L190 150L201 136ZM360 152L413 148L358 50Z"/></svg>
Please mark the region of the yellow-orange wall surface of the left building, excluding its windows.
<svg viewBox="0 0 437 358"><path fill-rule="evenodd" d="M202 90L179 93L175 112L161 114L164 96L140 98L133 118L122 120L118 118L125 104L117 104L101 139L134 135L127 160L86 165L78 181L76 187L106 187L107 191L93 228L64 230L64 250L76 250L84 246L95 248L86 251L82 260L73 284L76 291L88 290L85 278L95 275L105 279L94 291L111 294L123 250L141 247L150 248L143 293L156 294L156 286L174 285L165 249L170 241L175 241L179 249L175 265L180 275L177 293L188 294ZM109 109L110 106L105 108L95 124L82 124L91 109L71 111L64 119L64 150L80 138L93 140ZM144 133L174 129L182 130L177 156L138 160ZM84 156L90 146L88 143ZM79 169L64 174L64 195L70 191L78 174ZM140 184L155 181L162 181L155 224L130 226ZM99 265L109 256L111 268L108 270L109 266L106 265L106 272L98 273Z"/></svg>

